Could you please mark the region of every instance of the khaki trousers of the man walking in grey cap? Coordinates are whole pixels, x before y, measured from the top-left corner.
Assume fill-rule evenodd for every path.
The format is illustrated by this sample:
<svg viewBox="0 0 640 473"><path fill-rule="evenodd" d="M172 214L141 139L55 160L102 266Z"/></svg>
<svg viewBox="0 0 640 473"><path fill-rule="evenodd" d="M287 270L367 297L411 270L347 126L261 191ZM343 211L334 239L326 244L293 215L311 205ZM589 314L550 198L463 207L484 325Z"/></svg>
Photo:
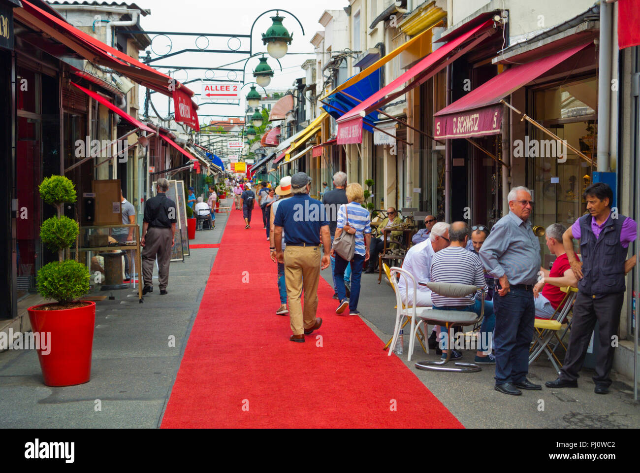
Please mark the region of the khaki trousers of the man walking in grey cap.
<svg viewBox="0 0 640 473"><path fill-rule="evenodd" d="M320 247L290 246L284 251L284 279L289 299L289 320L293 335L302 335L316 324ZM305 307L300 298L305 291Z"/></svg>

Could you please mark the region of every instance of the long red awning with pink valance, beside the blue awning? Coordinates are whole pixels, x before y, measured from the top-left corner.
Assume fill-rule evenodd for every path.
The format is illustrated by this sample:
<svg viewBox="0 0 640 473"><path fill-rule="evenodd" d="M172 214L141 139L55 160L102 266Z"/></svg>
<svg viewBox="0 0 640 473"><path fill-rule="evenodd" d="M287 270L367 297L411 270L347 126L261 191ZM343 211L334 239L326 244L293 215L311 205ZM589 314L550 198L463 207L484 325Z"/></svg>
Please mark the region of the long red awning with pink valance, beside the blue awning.
<svg viewBox="0 0 640 473"><path fill-rule="evenodd" d="M460 37L448 42L444 46L440 46L433 51L433 53L404 72L404 74L401 74L399 78L381 88L378 92L371 95L371 97L342 115L342 117L337 120L338 144L362 142L362 117L371 113L376 108L380 108L384 104L393 101L396 97L405 94L408 90L418 87L433 77L437 72L441 71L447 64L454 62L454 60L467 53L467 51L482 42L484 38L495 32L495 29L490 28L492 24L492 21L483 22L476 26L476 28L470 29L467 33L460 35ZM454 51L456 52L454 53ZM412 79L413 81L411 81ZM408 83L409 81L411 82ZM408 83L406 87L398 92L394 92L394 90L405 83ZM356 126L360 126L360 133L356 132ZM342 129L342 132L340 129ZM342 135L342 137L340 135Z"/></svg>

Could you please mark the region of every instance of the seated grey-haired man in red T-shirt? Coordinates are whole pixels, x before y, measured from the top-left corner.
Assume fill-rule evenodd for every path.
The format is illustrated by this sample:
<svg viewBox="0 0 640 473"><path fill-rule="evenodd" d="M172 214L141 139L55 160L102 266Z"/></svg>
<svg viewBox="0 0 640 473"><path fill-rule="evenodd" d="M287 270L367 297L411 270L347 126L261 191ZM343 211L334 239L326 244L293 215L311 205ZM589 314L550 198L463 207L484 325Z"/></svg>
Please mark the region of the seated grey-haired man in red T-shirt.
<svg viewBox="0 0 640 473"><path fill-rule="evenodd" d="M536 317L540 319L550 319L554 315L554 312L563 301L564 295L566 295L560 290L561 287L578 286L578 279L573 274L564 251L562 242L564 231L566 231L566 228L564 228L563 224L556 223L548 226L545 233L547 248L551 254L556 255L556 261L554 261L551 270L540 268L544 276L533 287Z"/></svg>

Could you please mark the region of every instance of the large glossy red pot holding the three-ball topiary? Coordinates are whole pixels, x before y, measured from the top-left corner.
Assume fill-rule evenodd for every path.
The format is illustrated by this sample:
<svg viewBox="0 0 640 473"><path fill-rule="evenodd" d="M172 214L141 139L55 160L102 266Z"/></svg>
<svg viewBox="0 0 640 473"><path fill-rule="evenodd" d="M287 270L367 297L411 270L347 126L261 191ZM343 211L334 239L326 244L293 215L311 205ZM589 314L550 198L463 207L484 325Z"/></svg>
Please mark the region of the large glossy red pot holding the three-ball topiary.
<svg viewBox="0 0 640 473"><path fill-rule="evenodd" d="M33 333L47 334L46 353L38 350L42 376L47 386L73 386L87 383L91 376L95 303L64 310L28 308Z"/></svg>

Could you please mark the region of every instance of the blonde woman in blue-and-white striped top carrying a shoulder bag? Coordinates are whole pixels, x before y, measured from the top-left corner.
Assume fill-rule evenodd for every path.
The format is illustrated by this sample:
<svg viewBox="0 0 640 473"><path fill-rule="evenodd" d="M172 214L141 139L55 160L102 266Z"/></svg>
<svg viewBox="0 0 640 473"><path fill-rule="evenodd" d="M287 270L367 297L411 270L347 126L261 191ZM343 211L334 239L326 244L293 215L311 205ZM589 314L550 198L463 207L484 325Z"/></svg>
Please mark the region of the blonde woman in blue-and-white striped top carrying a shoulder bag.
<svg viewBox="0 0 640 473"><path fill-rule="evenodd" d="M340 304L335 313L344 312L349 306L349 315L360 315L358 312L358 299L360 297L360 278L365 261L369 260L369 243L371 242L371 217L369 211L365 209L364 192L360 184L349 184L346 188L347 204L342 204L338 210L338 223L335 229L335 238L338 238L345 226L355 229L355 253L351 260L351 295L349 301L346 299L344 290L344 270L349 261L344 260L339 254L335 254L332 249L332 256L335 255L335 278L336 292Z"/></svg>

